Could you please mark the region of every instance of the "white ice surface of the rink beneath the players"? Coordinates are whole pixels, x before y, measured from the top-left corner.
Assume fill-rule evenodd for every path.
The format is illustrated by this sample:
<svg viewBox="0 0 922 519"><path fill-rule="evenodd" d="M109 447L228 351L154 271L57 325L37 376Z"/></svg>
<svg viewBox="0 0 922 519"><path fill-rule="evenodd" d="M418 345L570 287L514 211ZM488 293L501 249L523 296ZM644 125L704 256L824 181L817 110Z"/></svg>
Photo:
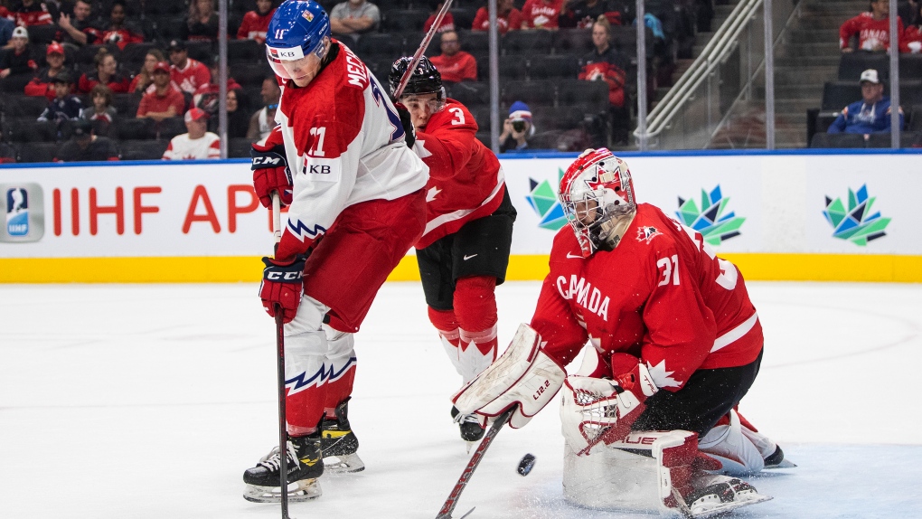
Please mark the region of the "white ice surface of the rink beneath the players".
<svg viewBox="0 0 922 519"><path fill-rule="evenodd" d="M922 286L750 283L766 335L741 411L798 468L752 482L734 517L920 517ZM500 342L539 284L498 289ZM242 472L276 442L274 324L255 285L0 286L0 517L279 516ZM292 517L431 518L467 464L460 384L417 283L384 286L357 336L350 419L364 472L323 478ZM650 517L561 492L550 407L497 436L455 509L470 519ZM527 478L523 454L538 458Z"/></svg>

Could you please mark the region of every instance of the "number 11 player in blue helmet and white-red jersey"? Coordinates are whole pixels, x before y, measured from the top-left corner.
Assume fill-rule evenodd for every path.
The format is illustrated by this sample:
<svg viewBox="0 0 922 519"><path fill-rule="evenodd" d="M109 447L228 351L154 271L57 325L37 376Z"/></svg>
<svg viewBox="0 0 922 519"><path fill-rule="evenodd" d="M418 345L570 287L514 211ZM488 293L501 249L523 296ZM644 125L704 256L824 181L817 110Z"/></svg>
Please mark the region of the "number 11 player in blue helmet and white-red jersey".
<svg viewBox="0 0 922 519"><path fill-rule="evenodd" d="M254 187L264 205L276 192L289 211L275 257L263 259L260 297L267 313L277 305L284 313L289 494L302 501L320 495L322 457L339 457L347 471L363 467L346 411L353 334L420 239L429 175L386 91L331 39L322 6L279 6L266 54L282 95L278 127L254 145ZM278 501L279 466L277 451L248 469L244 497Z"/></svg>

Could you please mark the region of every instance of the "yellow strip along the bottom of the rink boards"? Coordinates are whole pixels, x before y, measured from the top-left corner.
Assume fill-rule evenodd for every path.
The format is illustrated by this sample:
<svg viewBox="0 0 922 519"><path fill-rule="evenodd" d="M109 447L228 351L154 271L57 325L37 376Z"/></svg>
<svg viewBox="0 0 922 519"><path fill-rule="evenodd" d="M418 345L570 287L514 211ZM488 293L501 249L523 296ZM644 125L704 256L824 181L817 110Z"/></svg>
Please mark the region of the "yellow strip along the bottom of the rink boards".
<svg viewBox="0 0 922 519"><path fill-rule="evenodd" d="M721 254L750 280L922 283L922 256L894 254ZM0 258L0 283L258 282L258 257ZM540 280L548 256L513 255L506 279ZM388 281L419 281L407 256Z"/></svg>

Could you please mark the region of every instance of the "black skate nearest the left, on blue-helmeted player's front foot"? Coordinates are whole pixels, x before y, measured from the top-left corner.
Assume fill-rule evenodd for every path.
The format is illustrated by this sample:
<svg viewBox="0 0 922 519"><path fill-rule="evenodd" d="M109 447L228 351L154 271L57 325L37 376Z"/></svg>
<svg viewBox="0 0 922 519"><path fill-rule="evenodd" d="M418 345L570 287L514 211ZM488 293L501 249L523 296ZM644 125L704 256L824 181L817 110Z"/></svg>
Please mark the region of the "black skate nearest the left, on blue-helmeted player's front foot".
<svg viewBox="0 0 922 519"><path fill-rule="evenodd" d="M322 490L317 478L324 473L324 462L320 454L320 434L289 437L288 448L288 499L307 501L320 497ZM253 468L243 473L246 490L243 499L254 502L279 502L281 490L278 486L281 459L278 447Z"/></svg>

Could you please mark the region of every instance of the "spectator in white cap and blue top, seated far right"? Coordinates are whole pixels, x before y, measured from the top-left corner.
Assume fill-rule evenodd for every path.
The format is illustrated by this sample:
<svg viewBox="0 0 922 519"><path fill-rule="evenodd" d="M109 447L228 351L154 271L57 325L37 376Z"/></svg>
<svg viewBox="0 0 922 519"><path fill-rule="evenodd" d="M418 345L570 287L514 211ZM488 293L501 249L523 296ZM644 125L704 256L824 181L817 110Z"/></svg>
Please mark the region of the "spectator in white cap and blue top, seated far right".
<svg viewBox="0 0 922 519"><path fill-rule="evenodd" d="M846 106L826 130L830 134L890 133L890 98L883 95L883 83L877 71L869 68L861 73L861 100ZM900 109L900 127L903 127Z"/></svg>

